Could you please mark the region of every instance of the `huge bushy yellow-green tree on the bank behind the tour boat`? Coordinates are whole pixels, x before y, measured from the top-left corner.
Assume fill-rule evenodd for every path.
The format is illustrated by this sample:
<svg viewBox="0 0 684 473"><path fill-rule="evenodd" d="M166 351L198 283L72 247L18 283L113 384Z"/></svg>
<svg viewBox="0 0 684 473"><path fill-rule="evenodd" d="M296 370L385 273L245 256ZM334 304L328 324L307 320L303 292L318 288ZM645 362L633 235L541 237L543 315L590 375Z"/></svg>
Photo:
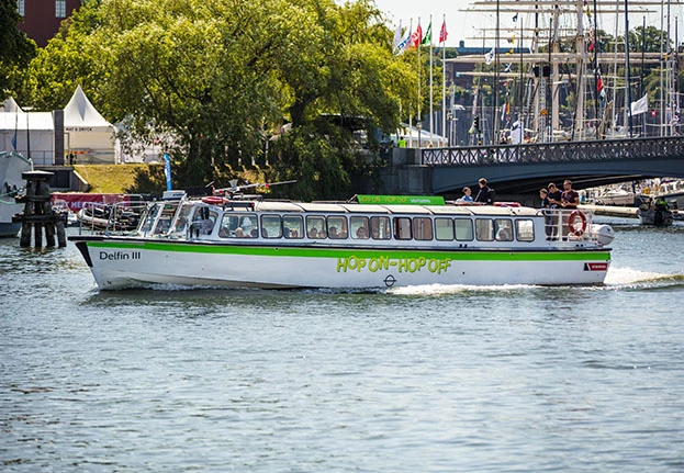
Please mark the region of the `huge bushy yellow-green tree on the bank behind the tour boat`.
<svg viewBox="0 0 684 473"><path fill-rule="evenodd" d="M262 160L290 123L270 142L269 176L319 179L317 196L337 195L351 131L318 117L396 128L417 64L391 54L391 36L367 0L91 0L32 64L32 92L49 110L80 83L126 136L172 136L181 184Z"/></svg>

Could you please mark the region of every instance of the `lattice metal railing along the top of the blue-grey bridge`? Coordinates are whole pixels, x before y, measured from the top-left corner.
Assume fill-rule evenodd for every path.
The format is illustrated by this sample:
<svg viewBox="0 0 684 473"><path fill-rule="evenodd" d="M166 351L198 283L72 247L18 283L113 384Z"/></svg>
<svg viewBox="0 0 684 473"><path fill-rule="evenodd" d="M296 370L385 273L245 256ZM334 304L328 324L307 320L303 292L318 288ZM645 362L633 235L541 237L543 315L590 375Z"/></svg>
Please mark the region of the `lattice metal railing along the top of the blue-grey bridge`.
<svg viewBox="0 0 684 473"><path fill-rule="evenodd" d="M535 143L458 148L424 148L425 166L476 166L517 162L571 162L684 156L684 137Z"/></svg>

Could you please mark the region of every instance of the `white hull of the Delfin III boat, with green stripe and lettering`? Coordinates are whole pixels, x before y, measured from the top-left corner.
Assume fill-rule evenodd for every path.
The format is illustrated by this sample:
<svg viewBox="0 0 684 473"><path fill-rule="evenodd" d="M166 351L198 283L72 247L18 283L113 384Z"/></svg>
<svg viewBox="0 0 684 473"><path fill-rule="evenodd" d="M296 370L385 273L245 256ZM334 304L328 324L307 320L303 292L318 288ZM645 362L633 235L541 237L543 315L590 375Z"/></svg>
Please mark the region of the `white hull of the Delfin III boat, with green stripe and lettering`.
<svg viewBox="0 0 684 473"><path fill-rule="evenodd" d="M82 238L102 290L154 284L263 289L386 289L423 284L601 284L607 250L505 251L271 247Z"/></svg>

